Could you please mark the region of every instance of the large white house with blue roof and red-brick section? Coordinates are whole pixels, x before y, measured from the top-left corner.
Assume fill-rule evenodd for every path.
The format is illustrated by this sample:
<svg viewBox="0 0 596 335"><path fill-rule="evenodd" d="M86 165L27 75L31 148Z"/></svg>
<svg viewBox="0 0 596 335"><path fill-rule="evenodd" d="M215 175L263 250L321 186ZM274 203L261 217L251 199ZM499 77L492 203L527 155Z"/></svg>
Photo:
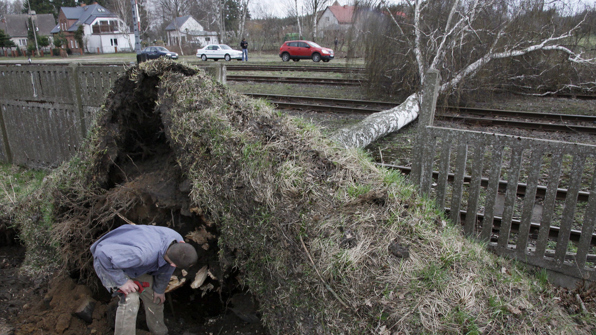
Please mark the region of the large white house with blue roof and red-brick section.
<svg viewBox="0 0 596 335"><path fill-rule="evenodd" d="M79 45L75 32L83 27L83 43ZM97 2L80 7L61 7L58 25L52 30L54 37L64 33L70 49L82 48L92 53L134 51L135 34L129 32L125 22Z"/></svg>

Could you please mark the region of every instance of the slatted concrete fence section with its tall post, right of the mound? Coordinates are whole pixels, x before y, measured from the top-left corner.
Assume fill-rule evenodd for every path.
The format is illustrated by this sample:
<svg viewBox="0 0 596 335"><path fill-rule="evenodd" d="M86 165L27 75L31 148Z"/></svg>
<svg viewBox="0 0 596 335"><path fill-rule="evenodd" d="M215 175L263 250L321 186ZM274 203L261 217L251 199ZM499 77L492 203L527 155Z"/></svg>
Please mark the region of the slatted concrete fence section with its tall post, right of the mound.
<svg viewBox="0 0 596 335"><path fill-rule="evenodd" d="M427 76L411 178L499 255L555 283L596 279L596 146L433 126L438 71Z"/></svg>

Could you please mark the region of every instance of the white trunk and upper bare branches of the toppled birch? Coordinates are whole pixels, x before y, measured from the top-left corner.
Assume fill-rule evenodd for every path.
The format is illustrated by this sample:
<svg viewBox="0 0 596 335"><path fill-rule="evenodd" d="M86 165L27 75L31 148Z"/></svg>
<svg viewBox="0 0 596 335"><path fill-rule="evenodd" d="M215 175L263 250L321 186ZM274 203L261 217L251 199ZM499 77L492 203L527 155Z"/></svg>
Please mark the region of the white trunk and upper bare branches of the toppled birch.
<svg viewBox="0 0 596 335"><path fill-rule="evenodd" d="M564 55L566 62L576 66L596 64L593 54L586 56L581 45L573 44L577 41L574 36L588 24L585 18L574 15L579 8L572 7L573 1L406 0L402 7L381 1L380 10L368 14L377 15L377 20L368 17L367 21L385 21L393 28L386 32L392 33L363 33L398 48L390 55L380 55L377 63L367 57L373 61L367 67L378 66L389 57L402 57L413 64L410 74L417 83L403 104L337 133L336 139L346 147L364 148L414 120L418 116L418 89L430 68L440 71L440 92L451 93L491 62L535 52Z"/></svg>

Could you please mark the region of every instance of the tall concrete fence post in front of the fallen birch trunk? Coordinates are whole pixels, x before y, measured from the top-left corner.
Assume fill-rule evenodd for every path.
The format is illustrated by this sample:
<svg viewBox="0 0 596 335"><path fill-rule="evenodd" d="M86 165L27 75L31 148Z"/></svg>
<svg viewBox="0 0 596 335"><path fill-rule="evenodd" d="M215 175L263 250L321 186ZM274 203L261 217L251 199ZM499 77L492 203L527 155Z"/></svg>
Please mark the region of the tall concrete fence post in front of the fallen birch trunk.
<svg viewBox="0 0 596 335"><path fill-rule="evenodd" d="M434 109L437 107L437 97L439 96L439 83L440 73L439 70L433 68L427 71L426 80L424 80L424 87L420 96L420 114L418 115L418 134L416 136L416 143L414 145L414 151L417 155L414 155L412 159L412 173L411 180L417 185L421 184L423 177L422 167L425 159L433 159L423 154L426 149L426 127L432 126L434 121ZM432 174L432 171L431 171Z"/></svg>

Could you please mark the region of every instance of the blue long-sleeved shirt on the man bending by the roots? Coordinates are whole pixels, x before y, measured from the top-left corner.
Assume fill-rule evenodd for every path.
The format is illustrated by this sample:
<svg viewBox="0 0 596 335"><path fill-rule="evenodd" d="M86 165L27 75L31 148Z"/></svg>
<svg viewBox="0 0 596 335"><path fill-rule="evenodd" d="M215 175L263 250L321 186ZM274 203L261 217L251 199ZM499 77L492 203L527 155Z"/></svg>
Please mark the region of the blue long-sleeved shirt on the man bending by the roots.
<svg viewBox="0 0 596 335"><path fill-rule="evenodd" d="M117 290L126 283L126 275L136 278L153 275L153 290L164 293L175 267L163 256L173 241L182 236L167 227L126 224L97 240L91 246L93 267L106 289Z"/></svg>

